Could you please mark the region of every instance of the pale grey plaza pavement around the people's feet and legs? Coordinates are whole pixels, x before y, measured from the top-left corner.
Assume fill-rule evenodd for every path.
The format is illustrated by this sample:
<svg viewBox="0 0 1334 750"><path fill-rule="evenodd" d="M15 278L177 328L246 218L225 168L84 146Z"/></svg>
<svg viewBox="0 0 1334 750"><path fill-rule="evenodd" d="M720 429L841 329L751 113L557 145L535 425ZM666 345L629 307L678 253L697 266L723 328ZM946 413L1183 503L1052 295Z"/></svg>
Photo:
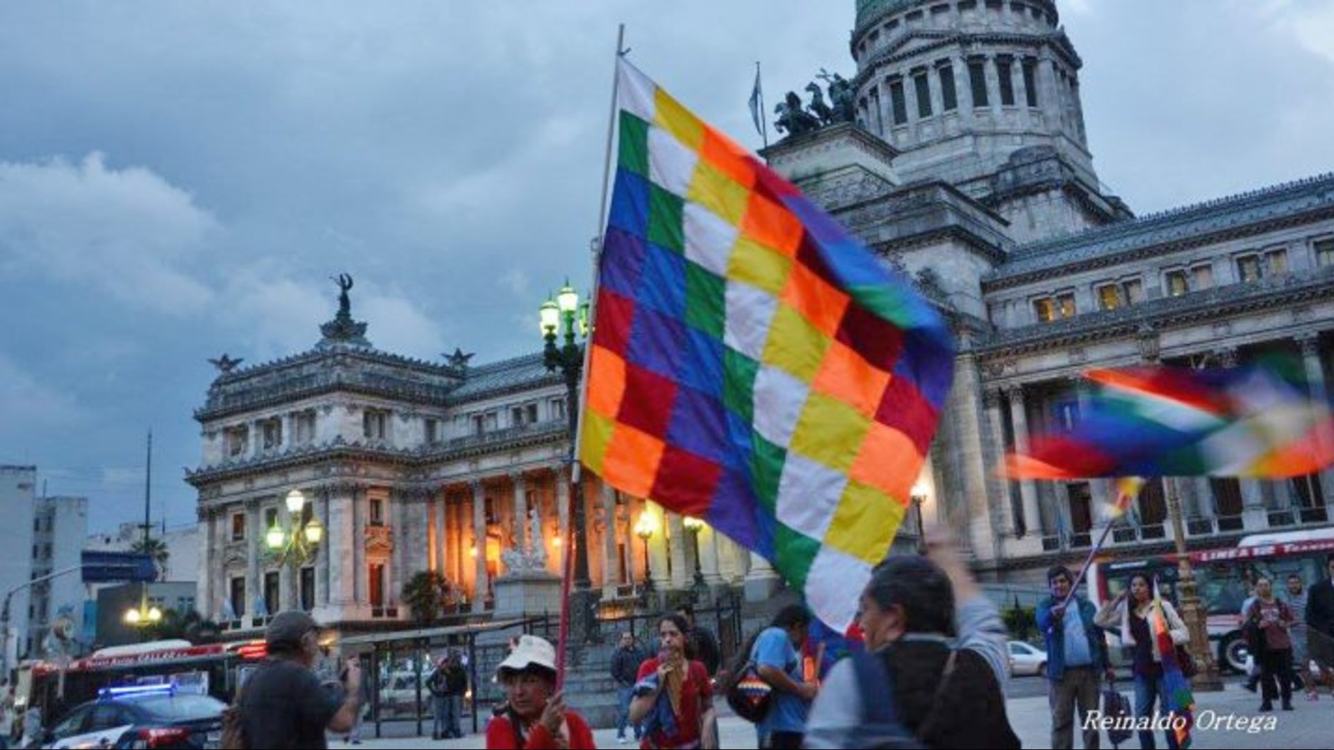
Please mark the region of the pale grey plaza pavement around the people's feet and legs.
<svg viewBox="0 0 1334 750"><path fill-rule="evenodd" d="M1126 690L1125 693L1130 693ZM1295 711L1274 711L1259 714L1259 698L1237 686L1229 686L1223 693L1206 693L1197 698L1197 726L1193 747L1199 750L1234 747L1329 747L1334 749L1334 701L1322 694L1319 702L1309 703L1305 695L1294 697ZM1025 747L1051 747L1051 719L1047 714L1047 699L1011 698L1006 701L1010 723L1023 741ZM1231 725L1229 729L1229 723ZM722 745L724 749L755 747L755 729L736 718L719 719ZM630 747L618 745L615 730L594 733L598 747ZM1158 746L1166 747L1162 734ZM432 741L430 738L367 739L356 747L483 747L480 735L463 739ZM1079 746L1079 733L1075 733L1075 746ZM1103 746L1111 747L1103 735ZM1138 747L1131 738L1123 747ZM331 742L329 747L347 747L343 742Z"/></svg>

